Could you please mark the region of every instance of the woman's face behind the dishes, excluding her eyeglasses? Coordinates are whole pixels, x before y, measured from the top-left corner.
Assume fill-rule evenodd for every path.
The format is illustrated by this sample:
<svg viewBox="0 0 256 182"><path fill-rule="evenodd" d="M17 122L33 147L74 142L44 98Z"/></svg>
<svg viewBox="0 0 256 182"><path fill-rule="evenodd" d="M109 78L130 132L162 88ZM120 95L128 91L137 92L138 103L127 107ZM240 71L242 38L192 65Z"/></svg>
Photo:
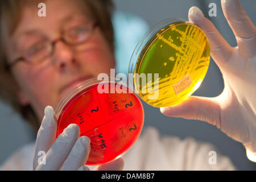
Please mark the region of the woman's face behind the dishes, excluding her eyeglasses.
<svg viewBox="0 0 256 182"><path fill-rule="evenodd" d="M56 40L63 31L79 26L81 22L93 22L79 1L46 1L46 17L39 17L38 10L38 5L33 4L23 8L18 27L13 35L7 37L9 62L22 56L24 49L37 42ZM73 86L97 77L99 73L109 75L110 68L114 66L113 52L100 28L96 27L79 51L58 41L51 57L34 65L19 61L12 72L18 83L20 103L30 104L42 121L44 107L51 105L56 109L61 98Z"/></svg>

